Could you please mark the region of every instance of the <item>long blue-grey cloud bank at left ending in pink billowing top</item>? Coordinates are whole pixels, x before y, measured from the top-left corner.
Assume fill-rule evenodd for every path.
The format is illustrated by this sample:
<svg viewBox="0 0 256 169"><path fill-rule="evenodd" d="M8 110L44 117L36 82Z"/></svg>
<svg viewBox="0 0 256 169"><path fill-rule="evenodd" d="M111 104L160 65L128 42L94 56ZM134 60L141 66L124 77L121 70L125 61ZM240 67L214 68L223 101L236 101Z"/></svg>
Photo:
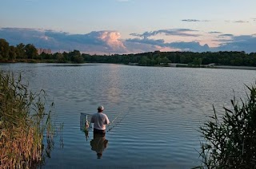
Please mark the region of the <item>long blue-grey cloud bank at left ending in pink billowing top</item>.
<svg viewBox="0 0 256 169"><path fill-rule="evenodd" d="M34 44L53 51L78 49L85 53L126 53L120 33L102 30L86 34L70 34L46 29L2 28L0 37L11 45Z"/></svg>

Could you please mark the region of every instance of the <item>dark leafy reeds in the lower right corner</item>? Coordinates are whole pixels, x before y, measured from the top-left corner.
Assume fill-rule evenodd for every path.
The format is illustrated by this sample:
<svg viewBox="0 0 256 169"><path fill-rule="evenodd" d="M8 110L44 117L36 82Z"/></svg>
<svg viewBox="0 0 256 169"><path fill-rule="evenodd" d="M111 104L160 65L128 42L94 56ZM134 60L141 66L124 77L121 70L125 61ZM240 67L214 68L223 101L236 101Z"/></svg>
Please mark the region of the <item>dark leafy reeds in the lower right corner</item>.
<svg viewBox="0 0 256 169"><path fill-rule="evenodd" d="M231 100L232 109L224 108L200 128L202 167L256 168L256 87L246 86L246 101Z"/></svg>

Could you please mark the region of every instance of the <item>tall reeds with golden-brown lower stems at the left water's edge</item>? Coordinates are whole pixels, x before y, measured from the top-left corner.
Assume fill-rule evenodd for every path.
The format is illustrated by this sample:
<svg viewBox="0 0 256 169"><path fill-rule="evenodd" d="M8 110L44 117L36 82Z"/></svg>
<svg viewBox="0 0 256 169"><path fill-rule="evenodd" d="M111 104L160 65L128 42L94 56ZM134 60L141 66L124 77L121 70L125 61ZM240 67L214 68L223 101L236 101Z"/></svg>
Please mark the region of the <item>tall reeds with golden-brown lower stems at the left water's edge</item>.
<svg viewBox="0 0 256 169"><path fill-rule="evenodd" d="M0 167L31 168L43 160L43 136L53 141L46 93L30 92L22 77L0 72Z"/></svg>

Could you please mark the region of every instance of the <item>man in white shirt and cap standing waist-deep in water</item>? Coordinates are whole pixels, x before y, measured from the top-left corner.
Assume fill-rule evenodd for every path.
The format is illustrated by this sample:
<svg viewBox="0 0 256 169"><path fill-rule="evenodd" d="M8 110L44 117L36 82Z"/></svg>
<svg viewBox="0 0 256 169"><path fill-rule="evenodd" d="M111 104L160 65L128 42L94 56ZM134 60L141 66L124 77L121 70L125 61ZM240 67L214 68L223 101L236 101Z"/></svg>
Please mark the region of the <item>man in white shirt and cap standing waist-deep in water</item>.
<svg viewBox="0 0 256 169"><path fill-rule="evenodd" d="M94 124L94 136L105 136L106 124L110 124L109 118L103 113L104 107L98 106L98 112L91 117L90 123Z"/></svg>

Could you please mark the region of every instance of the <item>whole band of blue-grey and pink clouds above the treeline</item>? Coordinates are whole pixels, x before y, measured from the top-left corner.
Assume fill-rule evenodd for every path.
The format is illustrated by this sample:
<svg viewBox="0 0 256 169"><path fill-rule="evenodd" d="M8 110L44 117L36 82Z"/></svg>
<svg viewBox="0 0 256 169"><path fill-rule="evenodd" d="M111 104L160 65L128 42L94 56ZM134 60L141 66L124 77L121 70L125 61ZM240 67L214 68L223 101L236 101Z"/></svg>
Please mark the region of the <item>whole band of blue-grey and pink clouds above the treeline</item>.
<svg viewBox="0 0 256 169"><path fill-rule="evenodd" d="M50 48L54 52L74 49L92 54L144 53L154 50L256 52L256 34L235 36L218 31L204 33L204 36L209 36L212 38L210 41L216 44L212 45L215 47L209 47L210 41L200 40L202 38L200 33L202 32L194 29L159 29L145 33L131 33L135 38L121 40L121 34L114 30L71 34L50 29L0 28L0 38L5 38L10 45L34 44L37 48ZM172 38L172 41L166 42L165 37Z"/></svg>

